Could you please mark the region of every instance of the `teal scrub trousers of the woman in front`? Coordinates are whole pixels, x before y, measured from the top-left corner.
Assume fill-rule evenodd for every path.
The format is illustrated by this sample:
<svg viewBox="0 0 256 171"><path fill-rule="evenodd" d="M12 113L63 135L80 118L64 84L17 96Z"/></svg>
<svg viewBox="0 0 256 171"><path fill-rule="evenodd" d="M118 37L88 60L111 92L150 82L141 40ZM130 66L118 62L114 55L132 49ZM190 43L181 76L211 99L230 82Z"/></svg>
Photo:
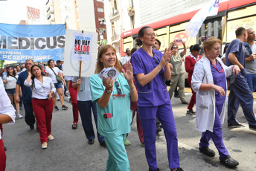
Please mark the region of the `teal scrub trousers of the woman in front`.
<svg viewBox="0 0 256 171"><path fill-rule="evenodd" d="M124 140L127 134L116 137L104 137L106 149L109 157L106 162L106 171L127 171L129 170L129 160L127 150L124 146Z"/></svg>

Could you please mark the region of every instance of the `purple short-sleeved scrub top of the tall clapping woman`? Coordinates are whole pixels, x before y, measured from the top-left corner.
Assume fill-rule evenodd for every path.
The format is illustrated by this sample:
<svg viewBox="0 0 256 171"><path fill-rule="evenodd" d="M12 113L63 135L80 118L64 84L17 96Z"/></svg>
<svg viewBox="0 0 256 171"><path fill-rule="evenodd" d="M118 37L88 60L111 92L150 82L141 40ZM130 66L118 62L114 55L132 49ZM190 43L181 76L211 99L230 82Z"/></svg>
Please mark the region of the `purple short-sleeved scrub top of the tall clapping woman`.
<svg viewBox="0 0 256 171"><path fill-rule="evenodd" d="M141 73L149 74L159 65L163 54L154 49L153 54L154 59L142 48L139 48L132 54L131 63L134 75ZM138 83L137 77L135 77L135 83L138 91L138 106L161 106L170 103L170 97L164 80L164 68L145 86L141 86Z"/></svg>

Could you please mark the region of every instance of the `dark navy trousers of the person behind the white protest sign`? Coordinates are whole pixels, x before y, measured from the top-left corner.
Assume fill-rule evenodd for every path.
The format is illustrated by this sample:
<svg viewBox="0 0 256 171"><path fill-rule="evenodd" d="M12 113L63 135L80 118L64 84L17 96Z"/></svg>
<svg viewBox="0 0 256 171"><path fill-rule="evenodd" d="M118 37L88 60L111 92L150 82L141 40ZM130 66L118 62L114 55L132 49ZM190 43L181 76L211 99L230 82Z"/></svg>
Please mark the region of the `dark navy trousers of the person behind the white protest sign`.
<svg viewBox="0 0 256 171"><path fill-rule="evenodd" d="M92 103L92 100L89 101L80 101L77 100L77 107L80 113L82 120L83 130L86 133L86 138L88 140L95 139L95 131L92 125L92 112L95 117L95 125L97 129L97 108L96 103ZM92 110L91 110L92 108ZM97 140L101 143L104 140L103 136L97 132Z"/></svg>

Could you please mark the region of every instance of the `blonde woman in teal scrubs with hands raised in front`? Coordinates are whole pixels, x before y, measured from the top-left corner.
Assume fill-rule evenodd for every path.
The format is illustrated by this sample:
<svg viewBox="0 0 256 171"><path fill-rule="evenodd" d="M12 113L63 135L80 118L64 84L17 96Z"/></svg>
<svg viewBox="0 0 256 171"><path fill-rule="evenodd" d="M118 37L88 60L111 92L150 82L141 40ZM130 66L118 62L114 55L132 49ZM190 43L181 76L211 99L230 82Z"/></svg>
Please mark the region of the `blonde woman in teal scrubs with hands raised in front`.
<svg viewBox="0 0 256 171"><path fill-rule="evenodd" d="M116 77L98 77L103 68L112 68L121 73L115 48L112 45L102 45L97 54L95 74L90 79L92 102L97 102L97 129L106 141L109 157L106 170L129 170L127 151L124 140L131 131L132 110L130 102L138 100L138 94L132 81L132 65L127 63L127 71ZM115 80L112 78L116 77Z"/></svg>

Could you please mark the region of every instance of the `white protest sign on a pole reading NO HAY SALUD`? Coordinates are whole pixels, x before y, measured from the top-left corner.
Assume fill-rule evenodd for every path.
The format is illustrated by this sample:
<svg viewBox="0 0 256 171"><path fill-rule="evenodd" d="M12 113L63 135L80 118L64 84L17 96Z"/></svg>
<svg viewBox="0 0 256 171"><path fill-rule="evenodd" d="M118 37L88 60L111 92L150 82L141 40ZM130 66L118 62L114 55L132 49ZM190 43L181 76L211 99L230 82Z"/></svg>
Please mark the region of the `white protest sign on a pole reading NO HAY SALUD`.
<svg viewBox="0 0 256 171"><path fill-rule="evenodd" d="M97 59L97 33L81 30L65 31L64 75L81 77L95 74Z"/></svg>

